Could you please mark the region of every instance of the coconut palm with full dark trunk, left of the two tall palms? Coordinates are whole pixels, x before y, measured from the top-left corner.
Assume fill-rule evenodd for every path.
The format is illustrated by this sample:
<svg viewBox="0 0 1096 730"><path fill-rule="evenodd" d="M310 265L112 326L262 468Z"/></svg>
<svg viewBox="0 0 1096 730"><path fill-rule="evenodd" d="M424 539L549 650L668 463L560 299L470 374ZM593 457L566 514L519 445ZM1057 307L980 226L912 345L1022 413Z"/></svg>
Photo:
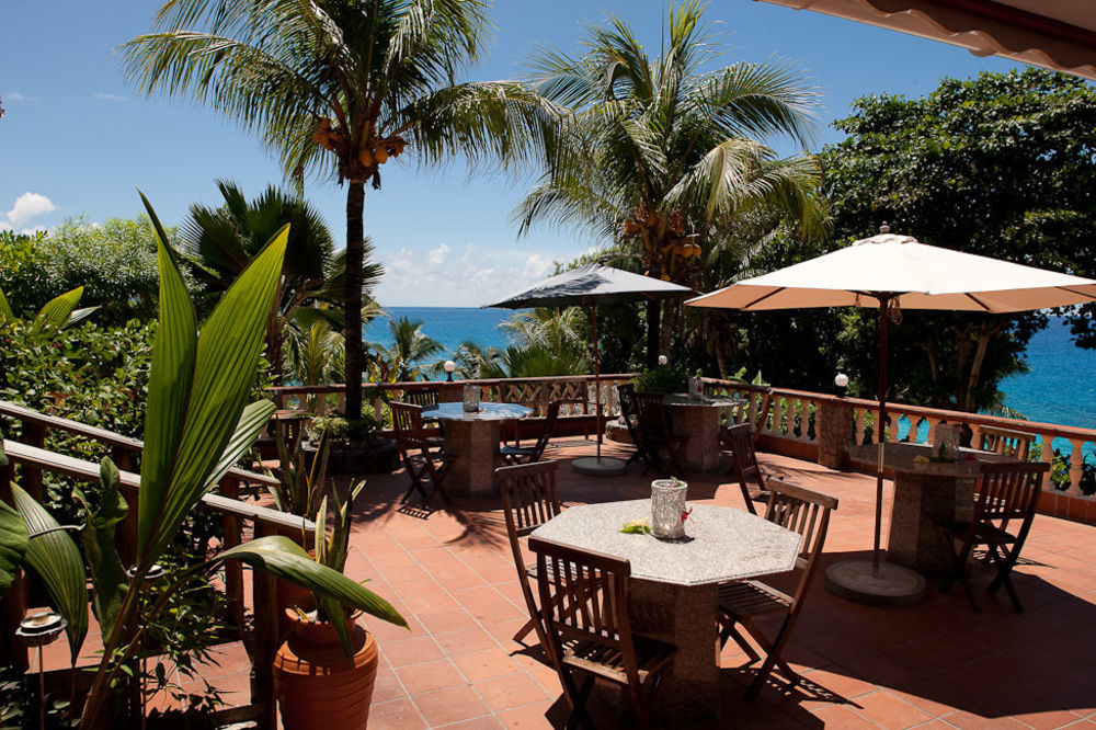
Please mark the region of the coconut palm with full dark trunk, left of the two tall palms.
<svg viewBox="0 0 1096 730"><path fill-rule="evenodd" d="M488 35L484 0L171 0L122 47L145 93L189 95L258 132L299 184L346 183L346 415L362 408L365 184L412 152L510 167L556 107L510 81L456 83Z"/></svg>

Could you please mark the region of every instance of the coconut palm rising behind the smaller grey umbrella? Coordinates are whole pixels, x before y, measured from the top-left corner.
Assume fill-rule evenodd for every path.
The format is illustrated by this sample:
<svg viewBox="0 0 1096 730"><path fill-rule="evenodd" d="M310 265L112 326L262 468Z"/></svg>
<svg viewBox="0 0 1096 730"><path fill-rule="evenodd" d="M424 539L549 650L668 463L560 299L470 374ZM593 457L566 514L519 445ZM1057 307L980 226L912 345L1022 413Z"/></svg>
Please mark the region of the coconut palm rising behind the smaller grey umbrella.
<svg viewBox="0 0 1096 730"><path fill-rule="evenodd" d="M784 136L806 147L817 91L781 65L704 71L717 52L701 14L696 0L672 5L653 61L616 18L590 31L580 57L553 48L534 56L534 88L574 115L548 140L547 171L514 210L521 233L547 223L627 242L648 275L690 284L705 250L745 210L775 206L807 230L821 224L814 160L779 158L762 141ZM676 306L660 342L660 307L648 305L651 366L669 345Z"/></svg>

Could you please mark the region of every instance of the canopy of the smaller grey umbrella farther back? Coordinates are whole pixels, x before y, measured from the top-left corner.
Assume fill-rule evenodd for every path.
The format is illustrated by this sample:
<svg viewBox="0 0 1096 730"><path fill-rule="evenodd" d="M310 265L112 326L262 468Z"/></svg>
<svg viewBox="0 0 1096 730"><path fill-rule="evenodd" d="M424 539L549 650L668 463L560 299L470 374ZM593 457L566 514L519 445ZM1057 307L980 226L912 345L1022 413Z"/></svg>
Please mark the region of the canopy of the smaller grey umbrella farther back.
<svg viewBox="0 0 1096 730"><path fill-rule="evenodd" d="M580 307L616 301L670 299L690 294L695 292L681 284L632 274L612 266L586 264L556 274L501 301L483 305L483 308Z"/></svg>

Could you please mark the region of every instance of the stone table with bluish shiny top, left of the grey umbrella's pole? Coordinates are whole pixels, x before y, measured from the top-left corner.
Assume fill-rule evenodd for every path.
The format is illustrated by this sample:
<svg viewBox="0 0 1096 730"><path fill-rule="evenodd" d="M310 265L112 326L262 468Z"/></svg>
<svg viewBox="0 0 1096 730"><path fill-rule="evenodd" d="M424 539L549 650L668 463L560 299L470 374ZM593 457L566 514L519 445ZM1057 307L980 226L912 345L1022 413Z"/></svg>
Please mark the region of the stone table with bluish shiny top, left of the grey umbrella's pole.
<svg viewBox="0 0 1096 730"><path fill-rule="evenodd" d="M478 411L465 411L463 402L423 407L423 420L445 422L445 453L455 457L445 483L449 493L472 498L493 495L500 424L532 412L532 408L517 403L487 401L480 402Z"/></svg>

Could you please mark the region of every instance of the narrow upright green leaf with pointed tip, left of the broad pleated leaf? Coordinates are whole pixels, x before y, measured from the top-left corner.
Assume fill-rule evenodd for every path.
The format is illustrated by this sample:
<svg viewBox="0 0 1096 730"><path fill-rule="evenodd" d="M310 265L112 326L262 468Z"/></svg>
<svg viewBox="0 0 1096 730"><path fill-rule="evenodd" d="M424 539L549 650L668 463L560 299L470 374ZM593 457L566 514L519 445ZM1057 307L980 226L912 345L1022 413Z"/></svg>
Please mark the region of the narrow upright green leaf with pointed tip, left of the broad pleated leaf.
<svg viewBox="0 0 1096 730"><path fill-rule="evenodd" d="M137 550L139 558L144 559L149 543L153 541L152 534L161 522L173 458L186 418L186 400L197 349L197 315L156 210L144 194L141 201L152 219L160 267L160 322L148 383L141 488L137 501ZM149 562L155 559L153 555Z"/></svg>

